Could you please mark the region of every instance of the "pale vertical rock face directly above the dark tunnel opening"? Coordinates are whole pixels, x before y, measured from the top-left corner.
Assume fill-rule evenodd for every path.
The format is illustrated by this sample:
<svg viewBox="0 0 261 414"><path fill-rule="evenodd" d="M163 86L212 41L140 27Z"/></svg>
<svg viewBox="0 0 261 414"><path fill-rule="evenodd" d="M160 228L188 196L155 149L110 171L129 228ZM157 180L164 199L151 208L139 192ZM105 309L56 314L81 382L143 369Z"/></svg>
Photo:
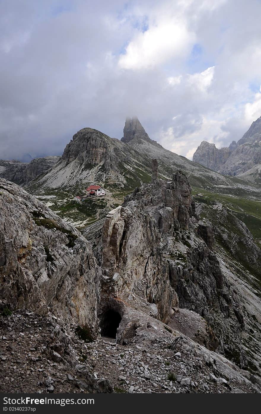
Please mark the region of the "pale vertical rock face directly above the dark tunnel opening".
<svg viewBox="0 0 261 414"><path fill-rule="evenodd" d="M155 303L157 317L166 321L171 313L172 289L156 222L138 203L133 202L129 207L119 206L105 219L105 289L122 298L134 292L149 303Z"/></svg>

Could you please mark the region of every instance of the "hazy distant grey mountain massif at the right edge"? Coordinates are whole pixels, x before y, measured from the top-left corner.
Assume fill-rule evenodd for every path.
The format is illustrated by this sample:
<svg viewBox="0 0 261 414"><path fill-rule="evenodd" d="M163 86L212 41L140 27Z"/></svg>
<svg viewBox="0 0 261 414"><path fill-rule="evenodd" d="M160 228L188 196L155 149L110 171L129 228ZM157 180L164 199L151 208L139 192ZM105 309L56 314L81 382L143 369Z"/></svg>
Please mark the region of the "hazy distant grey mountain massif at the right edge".
<svg viewBox="0 0 261 414"><path fill-rule="evenodd" d="M217 149L215 144L201 142L193 155L193 161L230 176L247 173L255 166L258 168L261 164L261 117L252 123L240 140L233 141L229 148ZM248 174L244 174L244 178L247 177Z"/></svg>

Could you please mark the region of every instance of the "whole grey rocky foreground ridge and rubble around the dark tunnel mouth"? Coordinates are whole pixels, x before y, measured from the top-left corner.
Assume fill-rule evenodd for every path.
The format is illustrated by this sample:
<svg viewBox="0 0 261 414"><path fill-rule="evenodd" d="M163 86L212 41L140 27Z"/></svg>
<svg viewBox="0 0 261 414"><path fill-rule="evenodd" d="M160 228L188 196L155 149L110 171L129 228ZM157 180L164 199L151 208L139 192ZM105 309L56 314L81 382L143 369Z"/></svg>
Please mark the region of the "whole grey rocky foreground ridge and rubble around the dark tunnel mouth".
<svg viewBox="0 0 261 414"><path fill-rule="evenodd" d="M1 391L261 391L247 312L187 178L153 165L106 217L101 267L77 230L0 180Z"/></svg>

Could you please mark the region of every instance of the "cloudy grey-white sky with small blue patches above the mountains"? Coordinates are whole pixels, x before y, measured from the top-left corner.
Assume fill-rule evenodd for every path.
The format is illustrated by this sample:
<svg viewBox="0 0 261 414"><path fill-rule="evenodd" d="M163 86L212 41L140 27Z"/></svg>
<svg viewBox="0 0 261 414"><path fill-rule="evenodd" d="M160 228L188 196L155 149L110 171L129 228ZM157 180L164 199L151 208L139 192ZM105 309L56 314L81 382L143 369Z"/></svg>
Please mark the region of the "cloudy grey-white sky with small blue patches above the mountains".
<svg viewBox="0 0 261 414"><path fill-rule="evenodd" d="M261 116L261 0L0 0L0 159L89 126L192 158Z"/></svg>

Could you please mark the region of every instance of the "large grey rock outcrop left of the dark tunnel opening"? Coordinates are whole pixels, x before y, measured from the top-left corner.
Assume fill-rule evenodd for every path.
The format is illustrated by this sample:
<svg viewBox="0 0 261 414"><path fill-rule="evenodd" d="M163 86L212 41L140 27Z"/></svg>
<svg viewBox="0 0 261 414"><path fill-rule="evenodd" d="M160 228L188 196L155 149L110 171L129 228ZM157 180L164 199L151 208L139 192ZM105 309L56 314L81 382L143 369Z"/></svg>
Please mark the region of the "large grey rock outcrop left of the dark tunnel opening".
<svg viewBox="0 0 261 414"><path fill-rule="evenodd" d="M19 186L0 179L0 297L51 310L97 335L99 268L81 234Z"/></svg>

